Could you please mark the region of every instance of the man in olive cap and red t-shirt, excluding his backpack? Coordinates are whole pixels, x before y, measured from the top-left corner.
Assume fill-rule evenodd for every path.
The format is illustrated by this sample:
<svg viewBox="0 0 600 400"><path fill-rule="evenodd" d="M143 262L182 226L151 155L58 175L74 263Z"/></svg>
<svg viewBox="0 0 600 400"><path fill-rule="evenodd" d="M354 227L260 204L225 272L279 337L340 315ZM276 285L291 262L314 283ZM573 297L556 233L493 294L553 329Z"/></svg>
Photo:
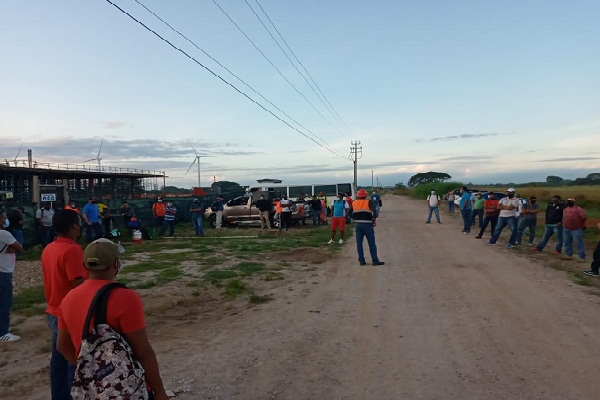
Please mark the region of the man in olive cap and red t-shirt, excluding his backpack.
<svg viewBox="0 0 600 400"><path fill-rule="evenodd" d="M64 298L59 309L58 350L76 364L81 347L85 318L96 292L114 281L121 269L123 248L108 239L90 243L84 253L84 264L90 278ZM156 400L167 400L156 355L146 333L144 306L139 294L131 289L114 289L106 305L106 323L129 343L133 356L144 367L146 383Z"/></svg>

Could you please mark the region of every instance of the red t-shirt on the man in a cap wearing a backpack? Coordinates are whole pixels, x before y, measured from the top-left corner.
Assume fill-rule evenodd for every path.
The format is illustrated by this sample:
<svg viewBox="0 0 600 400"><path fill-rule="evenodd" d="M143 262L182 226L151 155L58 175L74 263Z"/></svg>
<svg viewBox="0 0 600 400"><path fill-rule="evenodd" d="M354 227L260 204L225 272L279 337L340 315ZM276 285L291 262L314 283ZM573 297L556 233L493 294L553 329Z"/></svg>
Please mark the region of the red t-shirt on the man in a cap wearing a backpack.
<svg viewBox="0 0 600 400"><path fill-rule="evenodd" d="M75 354L79 354L81 333L90 304L98 290L111 281L88 279L71 290L58 310L58 329L71 335ZM146 327L142 299L135 290L115 288L106 304L106 322L119 333L131 333Z"/></svg>

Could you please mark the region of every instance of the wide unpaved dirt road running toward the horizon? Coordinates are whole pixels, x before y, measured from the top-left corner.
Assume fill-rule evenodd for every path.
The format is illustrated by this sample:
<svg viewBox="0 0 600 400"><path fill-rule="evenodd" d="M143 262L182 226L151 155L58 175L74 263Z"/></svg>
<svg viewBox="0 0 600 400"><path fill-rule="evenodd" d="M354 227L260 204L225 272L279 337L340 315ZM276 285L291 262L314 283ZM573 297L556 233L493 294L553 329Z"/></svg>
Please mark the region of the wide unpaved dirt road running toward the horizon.
<svg viewBox="0 0 600 400"><path fill-rule="evenodd" d="M150 316L167 387L178 399L599 399L598 291L548 255L459 234L458 215L426 225L424 203L384 198L384 266L360 267L351 238L268 289L269 303L199 314L174 301Z"/></svg>

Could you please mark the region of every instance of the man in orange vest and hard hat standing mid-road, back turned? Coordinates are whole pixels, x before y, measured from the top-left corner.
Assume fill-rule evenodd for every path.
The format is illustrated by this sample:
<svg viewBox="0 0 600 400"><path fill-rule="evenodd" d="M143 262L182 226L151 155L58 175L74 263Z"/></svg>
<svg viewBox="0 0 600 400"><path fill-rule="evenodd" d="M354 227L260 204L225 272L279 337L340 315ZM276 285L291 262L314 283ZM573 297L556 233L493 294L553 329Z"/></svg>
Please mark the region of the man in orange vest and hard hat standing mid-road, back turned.
<svg viewBox="0 0 600 400"><path fill-rule="evenodd" d="M377 217L375 216L375 206L373 201L367 200L369 194L365 189L360 189L356 193L357 199L352 202L352 219L354 219L354 233L356 235L356 250L358 252L358 262L360 265L367 265L363 250L363 238L367 238L371 261L373 265L383 265L383 261L377 256L377 245L375 244L375 229Z"/></svg>

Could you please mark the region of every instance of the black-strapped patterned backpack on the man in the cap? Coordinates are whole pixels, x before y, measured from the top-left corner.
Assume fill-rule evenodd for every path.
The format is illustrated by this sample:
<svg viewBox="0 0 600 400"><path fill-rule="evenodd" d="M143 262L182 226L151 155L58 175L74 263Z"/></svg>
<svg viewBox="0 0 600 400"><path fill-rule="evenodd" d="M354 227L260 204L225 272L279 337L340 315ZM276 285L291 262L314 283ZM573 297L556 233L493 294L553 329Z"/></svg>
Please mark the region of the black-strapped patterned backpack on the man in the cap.
<svg viewBox="0 0 600 400"><path fill-rule="evenodd" d="M106 323L108 296L118 287L127 288L117 282L100 288L88 310L71 388L74 399L148 399L144 368L133 357L129 343Z"/></svg>

